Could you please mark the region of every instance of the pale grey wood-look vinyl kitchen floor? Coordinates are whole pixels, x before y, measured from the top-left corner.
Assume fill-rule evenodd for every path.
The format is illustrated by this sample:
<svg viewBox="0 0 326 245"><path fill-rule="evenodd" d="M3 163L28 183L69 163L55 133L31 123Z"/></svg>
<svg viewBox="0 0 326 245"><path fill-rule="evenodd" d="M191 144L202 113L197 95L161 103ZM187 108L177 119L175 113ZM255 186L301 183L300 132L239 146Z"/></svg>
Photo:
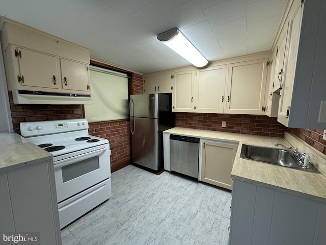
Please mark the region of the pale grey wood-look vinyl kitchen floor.
<svg viewBox="0 0 326 245"><path fill-rule="evenodd" d="M112 197L61 231L63 245L227 245L231 193L165 171L129 165Z"/></svg>

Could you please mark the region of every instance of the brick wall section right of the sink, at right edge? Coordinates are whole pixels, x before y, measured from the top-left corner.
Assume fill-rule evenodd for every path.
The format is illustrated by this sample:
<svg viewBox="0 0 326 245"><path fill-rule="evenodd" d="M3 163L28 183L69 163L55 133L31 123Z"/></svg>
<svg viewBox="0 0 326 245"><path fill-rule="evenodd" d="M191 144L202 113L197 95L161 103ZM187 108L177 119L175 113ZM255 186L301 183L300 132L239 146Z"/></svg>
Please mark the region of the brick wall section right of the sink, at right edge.
<svg viewBox="0 0 326 245"><path fill-rule="evenodd" d="M322 139L323 130L288 128L287 131L301 138L313 148L326 155L326 140Z"/></svg>

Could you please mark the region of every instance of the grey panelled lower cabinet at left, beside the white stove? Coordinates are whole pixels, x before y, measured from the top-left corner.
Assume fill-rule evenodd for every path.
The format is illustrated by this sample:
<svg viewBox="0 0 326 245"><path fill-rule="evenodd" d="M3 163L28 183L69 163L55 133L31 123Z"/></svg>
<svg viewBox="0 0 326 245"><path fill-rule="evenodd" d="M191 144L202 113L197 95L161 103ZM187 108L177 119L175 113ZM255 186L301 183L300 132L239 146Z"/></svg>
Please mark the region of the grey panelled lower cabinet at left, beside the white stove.
<svg viewBox="0 0 326 245"><path fill-rule="evenodd" d="M2 232L39 232L40 244L61 244L53 162L0 173Z"/></svg>

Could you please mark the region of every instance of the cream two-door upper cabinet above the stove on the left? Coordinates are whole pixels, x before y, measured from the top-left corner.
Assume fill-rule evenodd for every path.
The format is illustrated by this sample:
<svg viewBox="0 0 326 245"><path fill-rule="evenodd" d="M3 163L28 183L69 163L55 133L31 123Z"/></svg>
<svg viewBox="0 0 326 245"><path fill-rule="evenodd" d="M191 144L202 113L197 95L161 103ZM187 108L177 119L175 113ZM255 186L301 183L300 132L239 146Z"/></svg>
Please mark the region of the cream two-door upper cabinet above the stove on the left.
<svg viewBox="0 0 326 245"><path fill-rule="evenodd" d="M7 18L1 20L6 79L14 103L24 104L19 94L38 93L53 95L58 104L62 104L58 96L74 97L69 104L90 103L90 50Z"/></svg>

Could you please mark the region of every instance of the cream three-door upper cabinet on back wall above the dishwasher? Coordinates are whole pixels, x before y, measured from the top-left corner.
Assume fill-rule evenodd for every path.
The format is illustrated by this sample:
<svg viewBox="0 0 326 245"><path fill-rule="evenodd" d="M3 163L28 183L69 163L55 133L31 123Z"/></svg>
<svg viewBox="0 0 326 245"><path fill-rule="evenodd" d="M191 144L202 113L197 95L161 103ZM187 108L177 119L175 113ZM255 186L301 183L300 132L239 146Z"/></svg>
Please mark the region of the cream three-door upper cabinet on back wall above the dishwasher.
<svg viewBox="0 0 326 245"><path fill-rule="evenodd" d="M269 57L270 53L265 53L213 63L203 69L175 69L172 110L263 115ZM146 77L145 84L151 80L155 84L153 76Z"/></svg>

